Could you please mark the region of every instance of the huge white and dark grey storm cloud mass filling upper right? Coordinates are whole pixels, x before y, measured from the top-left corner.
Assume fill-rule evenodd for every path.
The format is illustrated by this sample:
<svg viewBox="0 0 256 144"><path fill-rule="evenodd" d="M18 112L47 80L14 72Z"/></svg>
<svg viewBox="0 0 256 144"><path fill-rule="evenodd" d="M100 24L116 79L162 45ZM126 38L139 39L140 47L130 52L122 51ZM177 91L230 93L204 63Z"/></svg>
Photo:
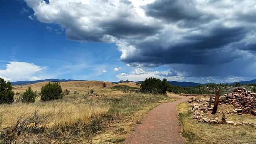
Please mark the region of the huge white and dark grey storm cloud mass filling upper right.
<svg viewBox="0 0 256 144"><path fill-rule="evenodd" d="M256 70L253 0L25 1L39 21L60 24L70 40L115 42L129 66L175 65L189 76ZM237 64L242 68L232 70ZM245 67L250 71L243 72Z"/></svg>

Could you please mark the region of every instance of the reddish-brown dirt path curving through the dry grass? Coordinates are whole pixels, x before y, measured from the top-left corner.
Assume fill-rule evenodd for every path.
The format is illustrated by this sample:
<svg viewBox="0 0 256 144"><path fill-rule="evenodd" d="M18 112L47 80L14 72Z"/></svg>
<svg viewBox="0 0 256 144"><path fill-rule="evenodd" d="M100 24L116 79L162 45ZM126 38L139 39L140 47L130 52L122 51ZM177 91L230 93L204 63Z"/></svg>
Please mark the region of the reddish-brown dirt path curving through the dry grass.
<svg viewBox="0 0 256 144"><path fill-rule="evenodd" d="M177 119L176 105L186 102L189 98L181 98L174 102L163 103L149 111L146 117L135 127L124 144L183 144L180 126Z"/></svg>

